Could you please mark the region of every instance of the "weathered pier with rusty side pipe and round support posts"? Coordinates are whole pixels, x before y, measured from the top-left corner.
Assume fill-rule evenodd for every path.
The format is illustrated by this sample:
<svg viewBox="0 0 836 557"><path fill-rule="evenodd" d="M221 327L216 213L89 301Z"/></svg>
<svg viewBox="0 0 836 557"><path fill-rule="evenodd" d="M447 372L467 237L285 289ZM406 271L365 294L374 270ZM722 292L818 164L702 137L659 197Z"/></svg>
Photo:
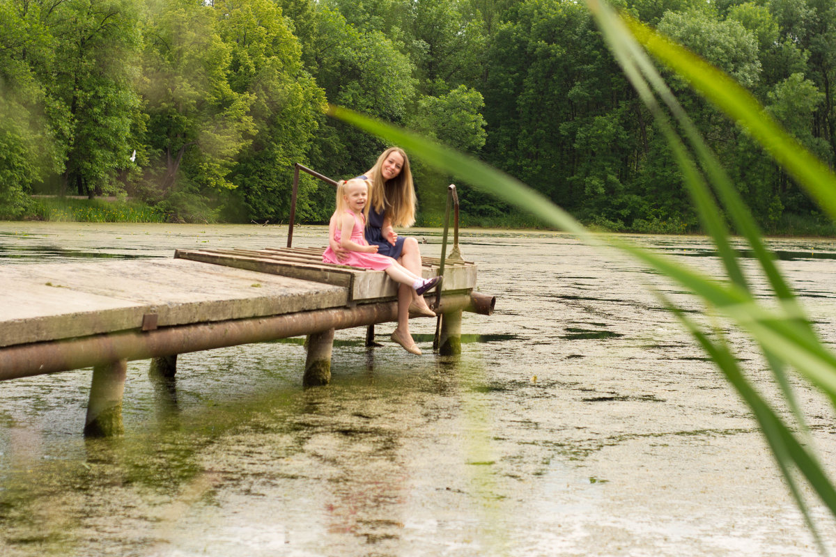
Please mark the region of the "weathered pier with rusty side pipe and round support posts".
<svg viewBox="0 0 836 557"><path fill-rule="evenodd" d="M85 433L121 431L129 360L173 376L176 355L308 336L305 385L330 380L334 330L397 319L383 271L322 262L322 249L181 251L170 260L3 266L0 380L93 367ZM440 261L423 258L423 276ZM438 350L460 350L461 311L490 315L477 267L446 259ZM435 302L435 293L427 295Z"/></svg>

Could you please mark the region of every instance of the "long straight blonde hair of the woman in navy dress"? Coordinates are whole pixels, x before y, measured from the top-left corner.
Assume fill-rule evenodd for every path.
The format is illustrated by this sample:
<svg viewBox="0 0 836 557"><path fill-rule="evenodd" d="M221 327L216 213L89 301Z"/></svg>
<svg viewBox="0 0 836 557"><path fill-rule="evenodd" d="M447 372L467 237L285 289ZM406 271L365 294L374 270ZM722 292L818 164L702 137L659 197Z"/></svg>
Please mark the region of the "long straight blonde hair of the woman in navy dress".
<svg viewBox="0 0 836 557"><path fill-rule="evenodd" d="M383 167L383 162L393 152L397 152L404 158L404 165L395 178L384 182L380 169ZM373 205L378 213L385 213L393 226L415 224L415 205L418 204L418 200L415 197L415 185L412 183L410 160L404 149L400 149L400 147L386 149L377 158L370 174L371 185L368 205Z"/></svg>

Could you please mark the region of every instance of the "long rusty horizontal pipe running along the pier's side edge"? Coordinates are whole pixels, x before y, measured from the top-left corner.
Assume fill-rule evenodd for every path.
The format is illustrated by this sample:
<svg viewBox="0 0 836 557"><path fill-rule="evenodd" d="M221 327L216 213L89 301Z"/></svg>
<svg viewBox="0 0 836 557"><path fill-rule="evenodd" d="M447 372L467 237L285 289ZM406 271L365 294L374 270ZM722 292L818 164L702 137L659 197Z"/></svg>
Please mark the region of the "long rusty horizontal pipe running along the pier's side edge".
<svg viewBox="0 0 836 557"><path fill-rule="evenodd" d="M446 311L472 305L468 293L446 294ZM67 341L36 342L0 349L0 380L145 360L250 342L298 337L397 320L397 301L303 311L280 316L117 332Z"/></svg>

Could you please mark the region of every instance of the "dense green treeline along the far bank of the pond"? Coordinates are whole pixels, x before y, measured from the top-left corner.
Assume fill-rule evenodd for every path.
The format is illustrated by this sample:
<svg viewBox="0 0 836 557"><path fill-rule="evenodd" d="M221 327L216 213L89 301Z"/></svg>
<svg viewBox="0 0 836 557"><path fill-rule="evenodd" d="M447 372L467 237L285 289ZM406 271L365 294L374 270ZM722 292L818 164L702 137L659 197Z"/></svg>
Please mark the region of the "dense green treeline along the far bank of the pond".
<svg viewBox="0 0 836 557"><path fill-rule="evenodd" d="M833 163L836 0L618 4L731 73ZM694 225L664 139L568 0L0 0L0 80L7 218L41 193L286 220L294 162L343 178L384 147L329 119L333 103L477 154L587 222ZM767 230L818 218L745 130L671 86ZM413 167L432 224L449 178ZM301 186L298 215L327 219L329 186ZM466 186L462 205L472 222L514 222Z"/></svg>

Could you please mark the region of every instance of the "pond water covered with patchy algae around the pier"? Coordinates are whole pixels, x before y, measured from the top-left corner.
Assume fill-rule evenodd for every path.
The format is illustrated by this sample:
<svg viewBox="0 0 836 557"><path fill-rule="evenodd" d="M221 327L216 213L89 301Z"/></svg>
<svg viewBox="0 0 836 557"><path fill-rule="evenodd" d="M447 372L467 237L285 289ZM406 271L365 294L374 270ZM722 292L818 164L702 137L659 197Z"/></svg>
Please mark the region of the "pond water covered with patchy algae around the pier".
<svg viewBox="0 0 836 557"><path fill-rule="evenodd" d="M438 230L413 230L438 256ZM294 246L324 246L298 227ZM285 245L258 225L0 223L5 265ZM635 241L711 272L700 237ZM493 316L465 314L460 357L337 332L328 387L301 339L130 362L125 435L81 434L90 370L0 384L0 554L814 555L747 409L633 261L551 232L463 230ZM772 241L828 342L836 243ZM737 356L774 388L757 353ZM823 461L833 413L799 385ZM832 470L833 467L830 466ZM826 513L813 506L813 514ZM836 542L825 521L828 544Z"/></svg>

